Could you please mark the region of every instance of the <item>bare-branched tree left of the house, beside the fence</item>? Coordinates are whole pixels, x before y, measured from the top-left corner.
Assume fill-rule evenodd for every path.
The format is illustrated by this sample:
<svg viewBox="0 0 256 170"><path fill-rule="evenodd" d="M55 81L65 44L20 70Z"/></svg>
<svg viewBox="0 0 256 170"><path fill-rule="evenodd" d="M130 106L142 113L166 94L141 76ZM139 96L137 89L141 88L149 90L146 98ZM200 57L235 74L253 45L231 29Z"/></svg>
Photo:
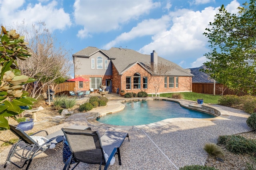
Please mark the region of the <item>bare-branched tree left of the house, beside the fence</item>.
<svg viewBox="0 0 256 170"><path fill-rule="evenodd" d="M25 34L29 39L31 57L26 62L19 60L20 70L24 75L36 79L37 83L26 84L25 90L30 89L30 97L38 98L44 88L54 88L61 83L60 79L68 76L72 62L68 60L69 51L56 44L54 35L44 22L33 25L32 31Z"/></svg>

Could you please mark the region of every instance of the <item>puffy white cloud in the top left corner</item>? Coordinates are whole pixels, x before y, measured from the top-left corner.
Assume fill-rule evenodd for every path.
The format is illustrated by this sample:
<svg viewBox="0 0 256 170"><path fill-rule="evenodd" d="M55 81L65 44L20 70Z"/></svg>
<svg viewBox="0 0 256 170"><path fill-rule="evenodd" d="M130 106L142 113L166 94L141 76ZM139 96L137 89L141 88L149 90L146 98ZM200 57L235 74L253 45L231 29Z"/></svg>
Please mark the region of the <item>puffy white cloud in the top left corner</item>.
<svg viewBox="0 0 256 170"><path fill-rule="evenodd" d="M10 26L25 21L31 27L33 23L42 21L46 23L46 27L51 31L55 29L63 30L67 26L69 27L71 25L70 16L64 12L63 8L58 8L58 2L46 2L44 1L45 5L30 3L25 6L24 0L2 0L1 22L3 25Z"/></svg>

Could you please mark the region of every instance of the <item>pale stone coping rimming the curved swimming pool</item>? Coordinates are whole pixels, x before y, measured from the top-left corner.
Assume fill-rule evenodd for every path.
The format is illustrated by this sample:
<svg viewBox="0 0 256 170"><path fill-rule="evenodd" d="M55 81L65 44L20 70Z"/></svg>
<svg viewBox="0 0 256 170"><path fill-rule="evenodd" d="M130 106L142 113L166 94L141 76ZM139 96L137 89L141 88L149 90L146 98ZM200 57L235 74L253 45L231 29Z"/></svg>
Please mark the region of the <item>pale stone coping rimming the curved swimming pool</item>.
<svg viewBox="0 0 256 170"><path fill-rule="evenodd" d="M130 101L143 101L143 100L166 100L171 102L179 103L180 106L188 108L188 109L194 109L197 111L202 111L205 113L216 115L217 117L213 118L187 118L187 117L179 117L179 118L169 118L164 119L162 121L145 124L145 125L133 125L133 126L121 126L121 125L110 125L110 124L104 124L96 119L98 117L116 113L118 111L121 111L124 109L125 105L123 103L130 102ZM112 103L111 103L112 102ZM112 106L111 106L112 105ZM114 107L113 107L114 105ZM173 99L173 98L166 98L166 97L152 97L152 98L129 98L129 99L118 99L113 101L109 101L108 105L105 107L102 107L101 109L96 109L94 111L90 111L86 113L86 120L88 123L91 123L92 125L100 126L100 127L106 127L106 128L114 128L114 129L124 129L124 130L136 130L136 129L151 129L156 128L159 126L163 126L166 124L169 124L174 121L221 121L226 120L230 117L230 114L226 111L220 111L219 109L216 109L216 107L211 106L211 104L197 104L197 102L191 101L191 100L184 100L184 99Z"/></svg>

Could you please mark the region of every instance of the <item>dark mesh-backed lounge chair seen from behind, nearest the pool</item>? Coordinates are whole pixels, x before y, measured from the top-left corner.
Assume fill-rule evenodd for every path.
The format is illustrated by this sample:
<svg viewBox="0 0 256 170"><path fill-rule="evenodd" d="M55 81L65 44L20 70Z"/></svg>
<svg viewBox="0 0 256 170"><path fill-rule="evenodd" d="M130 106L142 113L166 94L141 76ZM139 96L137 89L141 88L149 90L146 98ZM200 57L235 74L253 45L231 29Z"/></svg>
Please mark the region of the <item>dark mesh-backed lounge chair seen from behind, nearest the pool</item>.
<svg viewBox="0 0 256 170"><path fill-rule="evenodd" d="M99 170L101 170L101 165L104 165L104 170L106 170L110 165L110 161L116 154L118 154L119 165L121 165L119 148L126 137L128 137L128 141L130 141L128 133L107 131L100 137L98 131L68 128L62 128L62 131L64 132L72 152L63 170L70 168L72 158L77 162L72 170L76 168L80 162L99 164ZM105 158L106 155L109 156L108 159Z"/></svg>

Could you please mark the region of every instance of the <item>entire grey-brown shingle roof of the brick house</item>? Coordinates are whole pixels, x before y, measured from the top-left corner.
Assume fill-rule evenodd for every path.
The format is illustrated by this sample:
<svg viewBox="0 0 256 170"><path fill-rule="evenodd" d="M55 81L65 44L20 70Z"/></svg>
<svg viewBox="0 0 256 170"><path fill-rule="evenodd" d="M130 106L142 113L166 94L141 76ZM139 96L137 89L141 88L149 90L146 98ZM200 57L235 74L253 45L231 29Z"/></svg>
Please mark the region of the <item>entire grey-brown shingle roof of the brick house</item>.
<svg viewBox="0 0 256 170"><path fill-rule="evenodd" d="M150 72L150 70L147 69L147 66L150 66L151 55L141 54L132 49L112 47L109 50L101 50L96 47L87 47L75 53L73 57L90 57L98 51L104 53L109 59L112 59L111 61L119 74L123 74L123 72L136 64L136 62ZM159 56L158 63L170 65L170 70L166 73L166 76L193 76L193 74L190 73L190 70L184 69L179 65Z"/></svg>

